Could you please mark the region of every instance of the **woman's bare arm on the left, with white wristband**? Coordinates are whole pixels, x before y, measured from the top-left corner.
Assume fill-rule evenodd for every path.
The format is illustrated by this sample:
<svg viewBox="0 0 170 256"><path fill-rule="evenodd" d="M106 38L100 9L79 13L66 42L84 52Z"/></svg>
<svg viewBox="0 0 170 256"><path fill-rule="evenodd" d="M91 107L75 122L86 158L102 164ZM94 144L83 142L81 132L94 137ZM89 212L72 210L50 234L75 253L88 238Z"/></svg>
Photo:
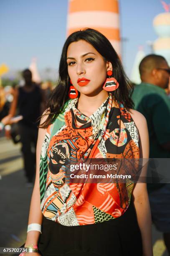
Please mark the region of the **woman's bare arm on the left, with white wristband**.
<svg viewBox="0 0 170 256"><path fill-rule="evenodd" d="M41 123L43 123L46 120L46 118L47 118L47 115L43 116L43 118L41 118ZM31 223L38 223L41 225L42 219L43 219L43 214L40 209L39 171L40 171L41 147L42 147L45 135L46 135L46 129L39 128L37 148L36 148L36 179L35 179L33 194L32 194L31 202L30 202L28 225ZM39 231L29 231L27 233L25 246L28 246L30 244L37 244L39 236L40 236Z"/></svg>

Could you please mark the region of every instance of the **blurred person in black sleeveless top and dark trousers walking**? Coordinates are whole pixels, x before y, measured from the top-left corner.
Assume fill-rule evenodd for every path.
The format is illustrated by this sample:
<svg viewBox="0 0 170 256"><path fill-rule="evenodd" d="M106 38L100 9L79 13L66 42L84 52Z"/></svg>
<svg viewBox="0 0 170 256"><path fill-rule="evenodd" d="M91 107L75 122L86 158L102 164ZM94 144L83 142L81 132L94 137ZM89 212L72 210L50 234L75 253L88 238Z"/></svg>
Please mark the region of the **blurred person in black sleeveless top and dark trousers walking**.
<svg viewBox="0 0 170 256"><path fill-rule="evenodd" d="M15 89L14 99L9 113L23 116L19 125L20 141L24 159L24 169L27 178L27 187L33 186L36 164L36 143L38 137L37 120L44 110L44 97L40 87L32 81L32 74L29 69L23 71L25 84Z"/></svg>

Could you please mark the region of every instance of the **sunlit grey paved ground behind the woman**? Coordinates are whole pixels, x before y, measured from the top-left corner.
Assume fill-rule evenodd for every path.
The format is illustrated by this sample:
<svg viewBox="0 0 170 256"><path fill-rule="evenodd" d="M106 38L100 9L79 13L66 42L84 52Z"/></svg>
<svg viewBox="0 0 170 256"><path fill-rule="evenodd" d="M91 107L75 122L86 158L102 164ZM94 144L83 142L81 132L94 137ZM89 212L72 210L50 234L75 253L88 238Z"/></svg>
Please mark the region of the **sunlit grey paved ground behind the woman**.
<svg viewBox="0 0 170 256"><path fill-rule="evenodd" d="M32 188L25 187L20 145L0 137L0 247L20 247L26 238ZM168 256L162 234L153 231L154 256ZM7 254L6 254L7 255Z"/></svg>

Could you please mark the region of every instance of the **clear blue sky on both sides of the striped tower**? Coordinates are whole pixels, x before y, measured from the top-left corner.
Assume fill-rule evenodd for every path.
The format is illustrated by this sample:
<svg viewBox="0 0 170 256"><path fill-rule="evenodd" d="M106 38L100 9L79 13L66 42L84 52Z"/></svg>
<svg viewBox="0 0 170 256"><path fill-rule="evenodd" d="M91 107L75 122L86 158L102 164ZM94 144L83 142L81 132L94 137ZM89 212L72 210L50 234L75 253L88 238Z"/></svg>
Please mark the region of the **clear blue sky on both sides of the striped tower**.
<svg viewBox="0 0 170 256"><path fill-rule="evenodd" d="M67 0L0 0L0 64L24 69L36 56L38 69L57 69L66 39L67 5ZM150 53L146 41L157 38L152 21L164 9L160 0L119 0L119 8L129 74L138 46Z"/></svg>

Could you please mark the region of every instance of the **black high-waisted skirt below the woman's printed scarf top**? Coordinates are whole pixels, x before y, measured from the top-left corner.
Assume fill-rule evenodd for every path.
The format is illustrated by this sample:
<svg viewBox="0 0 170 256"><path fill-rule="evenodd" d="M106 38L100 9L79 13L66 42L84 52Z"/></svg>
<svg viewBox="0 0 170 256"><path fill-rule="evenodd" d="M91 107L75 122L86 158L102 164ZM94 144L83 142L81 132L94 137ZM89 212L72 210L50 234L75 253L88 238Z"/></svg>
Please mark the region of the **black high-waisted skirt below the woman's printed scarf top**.
<svg viewBox="0 0 170 256"><path fill-rule="evenodd" d="M38 248L43 256L142 256L142 238L133 202L114 220L63 226L43 217Z"/></svg>

